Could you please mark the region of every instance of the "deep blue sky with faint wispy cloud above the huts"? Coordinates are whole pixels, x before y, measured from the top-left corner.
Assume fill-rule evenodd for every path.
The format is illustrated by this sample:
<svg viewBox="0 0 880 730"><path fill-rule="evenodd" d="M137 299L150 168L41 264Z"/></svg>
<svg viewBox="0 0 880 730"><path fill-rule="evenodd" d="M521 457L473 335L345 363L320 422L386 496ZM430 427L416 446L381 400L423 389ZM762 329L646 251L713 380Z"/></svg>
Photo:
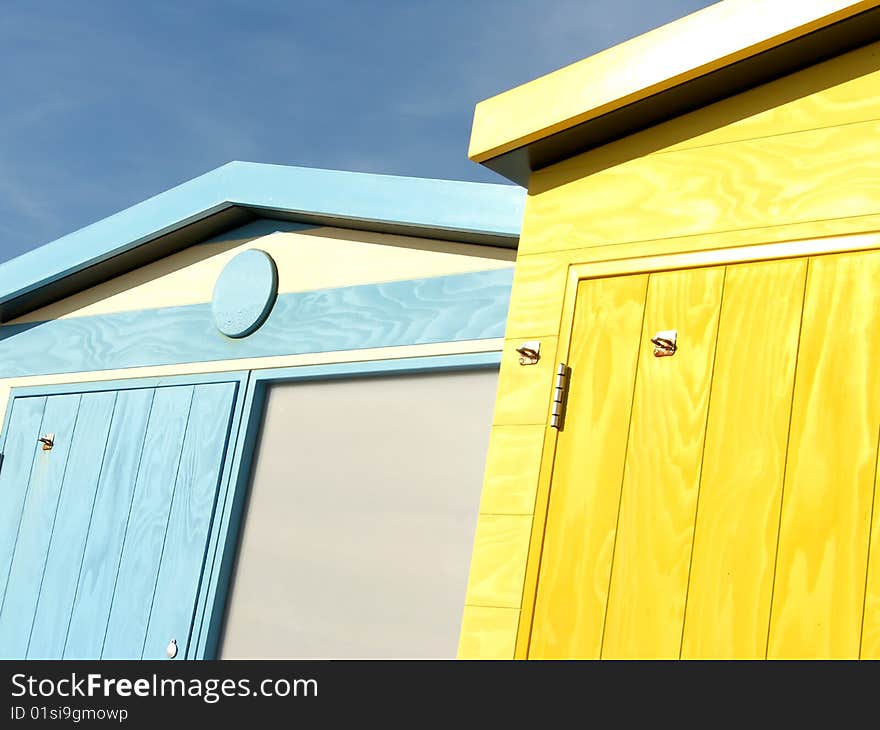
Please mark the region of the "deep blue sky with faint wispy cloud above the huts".
<svg viewBox="0 0 880 730"><path fill-rule="evenodd" d="M230 160L503 182L476 102L708 0L7 0L0 261Z"/></svg>

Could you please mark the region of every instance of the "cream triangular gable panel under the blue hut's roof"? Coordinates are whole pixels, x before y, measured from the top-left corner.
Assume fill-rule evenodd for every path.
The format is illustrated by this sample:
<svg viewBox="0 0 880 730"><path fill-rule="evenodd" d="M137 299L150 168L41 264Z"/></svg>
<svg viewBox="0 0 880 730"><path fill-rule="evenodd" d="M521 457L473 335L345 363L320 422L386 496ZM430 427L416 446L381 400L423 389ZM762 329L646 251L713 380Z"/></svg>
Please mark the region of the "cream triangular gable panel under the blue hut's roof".
<svg viewBox="0 0 880 730"><path fill-rule="evenodd" d="M275 260L282 293L511 268L516 254L497 247L341 228L281 231L190 246L12 321L209 302L223 267L251 248L266 251Z"/></svg>

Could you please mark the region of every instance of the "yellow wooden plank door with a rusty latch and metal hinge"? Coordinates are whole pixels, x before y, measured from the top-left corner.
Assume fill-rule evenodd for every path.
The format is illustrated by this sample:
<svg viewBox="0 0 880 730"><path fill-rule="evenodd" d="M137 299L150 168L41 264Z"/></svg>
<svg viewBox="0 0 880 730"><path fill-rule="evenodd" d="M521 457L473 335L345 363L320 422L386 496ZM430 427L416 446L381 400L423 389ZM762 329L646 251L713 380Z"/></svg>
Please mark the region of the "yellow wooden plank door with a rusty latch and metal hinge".
<svg viewBox="0 0 880 730"><path fill-rule="evenodd" d="M880 252L580 283L530 657L880 653L878 282Z"/></svg>

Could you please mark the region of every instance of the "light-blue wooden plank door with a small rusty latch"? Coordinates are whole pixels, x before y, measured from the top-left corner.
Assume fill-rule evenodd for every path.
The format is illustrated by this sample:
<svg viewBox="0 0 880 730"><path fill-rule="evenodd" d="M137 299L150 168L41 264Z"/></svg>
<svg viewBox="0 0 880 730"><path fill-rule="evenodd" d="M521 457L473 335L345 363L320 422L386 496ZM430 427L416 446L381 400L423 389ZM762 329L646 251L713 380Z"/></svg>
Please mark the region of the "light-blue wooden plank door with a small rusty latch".
<svg viewBox="0 0 880 730"><path fill-rule="evenodd" d="M190 656L236 382L14 398L0 658ZM51 449L38 439L54 434Z"/></svg>

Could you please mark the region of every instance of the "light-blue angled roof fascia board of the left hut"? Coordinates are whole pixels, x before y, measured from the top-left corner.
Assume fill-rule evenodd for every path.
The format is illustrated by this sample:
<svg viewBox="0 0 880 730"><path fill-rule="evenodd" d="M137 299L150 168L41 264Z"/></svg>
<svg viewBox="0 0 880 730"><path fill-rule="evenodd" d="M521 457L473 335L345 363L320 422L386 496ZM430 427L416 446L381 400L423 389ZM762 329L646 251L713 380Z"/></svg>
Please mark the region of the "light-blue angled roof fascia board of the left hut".
<svg viewBox="0 0 880 730"><path fill-rule="evenodd" d="M0 308L232 206L367 230L378 224L515 242L525 198L510 185L231 162L0 265Z"/></svg>

